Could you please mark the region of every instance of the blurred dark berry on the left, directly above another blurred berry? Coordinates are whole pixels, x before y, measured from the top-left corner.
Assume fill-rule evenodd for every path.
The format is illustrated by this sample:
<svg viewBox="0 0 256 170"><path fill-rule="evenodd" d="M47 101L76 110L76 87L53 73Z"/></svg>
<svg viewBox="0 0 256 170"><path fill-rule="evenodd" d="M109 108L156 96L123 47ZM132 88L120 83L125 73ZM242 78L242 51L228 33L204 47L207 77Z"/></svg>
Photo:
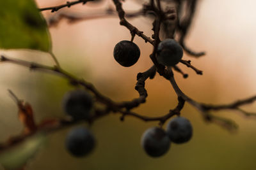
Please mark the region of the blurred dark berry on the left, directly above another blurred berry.
<svg viewBox="0 0 256 170"><path fill-rule="evenodd" d="M63 97L63 109L75 120L89 118L92 106L93 98L84 90L72 90Z"/></svg>

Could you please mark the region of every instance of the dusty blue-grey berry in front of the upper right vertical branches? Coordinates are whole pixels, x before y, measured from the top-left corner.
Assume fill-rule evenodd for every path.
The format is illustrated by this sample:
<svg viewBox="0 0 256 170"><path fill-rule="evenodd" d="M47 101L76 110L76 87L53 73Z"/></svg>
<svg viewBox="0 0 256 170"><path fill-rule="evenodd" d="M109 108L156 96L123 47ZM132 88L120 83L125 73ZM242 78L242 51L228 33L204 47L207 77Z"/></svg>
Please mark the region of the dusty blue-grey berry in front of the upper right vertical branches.
<svg viewBox="0 0 256 170"><path fill-rule="evenodd" d="M182 56L182 46L174 39L164 39L157 47L157 61L164 66L175 66Z"/></svg>

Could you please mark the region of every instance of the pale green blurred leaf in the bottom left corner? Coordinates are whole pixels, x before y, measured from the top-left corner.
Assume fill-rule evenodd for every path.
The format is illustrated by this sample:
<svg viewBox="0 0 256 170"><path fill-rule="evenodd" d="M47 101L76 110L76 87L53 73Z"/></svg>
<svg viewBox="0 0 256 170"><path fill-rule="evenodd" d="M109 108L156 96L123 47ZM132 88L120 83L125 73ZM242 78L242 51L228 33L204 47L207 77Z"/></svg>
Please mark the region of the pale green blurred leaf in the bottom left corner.
<svg viewBox="0 0 256 170"><path fill-rule="evenodd" d="M40 146L46 141L44 134L38 134L10 150L1 153L0 164L5 169L17 169L26 166L29 159L35 156Z"/></svg>

